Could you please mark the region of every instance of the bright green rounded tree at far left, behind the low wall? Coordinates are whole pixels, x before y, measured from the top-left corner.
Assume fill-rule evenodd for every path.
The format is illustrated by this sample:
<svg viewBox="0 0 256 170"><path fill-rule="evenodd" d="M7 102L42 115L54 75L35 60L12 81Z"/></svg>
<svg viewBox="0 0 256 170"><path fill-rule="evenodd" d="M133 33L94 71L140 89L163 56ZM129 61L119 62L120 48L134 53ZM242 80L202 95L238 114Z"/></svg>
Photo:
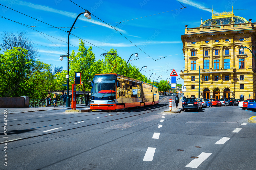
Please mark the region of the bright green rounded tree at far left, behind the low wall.
<svg viewBox="0 0 256 170"><path fill-rule="evenodd" d="M7 49L0 55L0 96L20 97L34 93L33 84L28 81L33 66L28 51L20 47Z"/></svg>

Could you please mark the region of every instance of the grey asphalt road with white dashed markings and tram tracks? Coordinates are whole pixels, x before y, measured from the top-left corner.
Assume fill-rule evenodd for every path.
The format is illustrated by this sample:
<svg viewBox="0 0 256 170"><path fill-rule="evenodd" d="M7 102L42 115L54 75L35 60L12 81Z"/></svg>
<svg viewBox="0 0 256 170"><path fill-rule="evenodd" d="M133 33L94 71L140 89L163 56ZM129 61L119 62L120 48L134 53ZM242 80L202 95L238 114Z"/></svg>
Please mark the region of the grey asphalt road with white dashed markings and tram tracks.
<svg viewBox="0 0 256 170"><path fill-rule="evenodd" d="M15 141L0 144L0 168L255 169L256 124L247 122L255 112L230 106L164 113L169 98L125 112L8 114L7 135L1 115L0 142Z"/></svg>

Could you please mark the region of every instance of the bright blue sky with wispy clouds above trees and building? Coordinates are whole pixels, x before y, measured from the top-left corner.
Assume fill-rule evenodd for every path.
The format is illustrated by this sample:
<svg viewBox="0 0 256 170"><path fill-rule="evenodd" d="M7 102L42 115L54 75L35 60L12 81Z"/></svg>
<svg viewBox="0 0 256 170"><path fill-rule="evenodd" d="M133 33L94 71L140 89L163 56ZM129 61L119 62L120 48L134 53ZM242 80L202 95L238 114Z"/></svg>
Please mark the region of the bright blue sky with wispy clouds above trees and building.
<svg viewBox="0 0 256 170"><path fill-rule="evenodd" d="M147 66L147 69L143 68L142 73L148 77L150 77L152 73L156 72L156 75L152 75L151 81L153 79L156 81L158 76L161 75L163 76L162 78L166 80L172 71L170 69L175 69L177 74L180 73L180 70L184 70L184 57L182 54L183 45L180 36L184 34L185 25L188 25L188 28L199 27L201 17L203 18L203 21L211 18L212 10L206 8L212 8L213 6L214 12L229 11L233 3L235 16L244 17L247 20L252 19L252 22L256 21L255 10L238 10L255 9L255 4L252 0L217 0L214 2L209 0L180 0L180 3L187 7L185 9L179 9L183 6L175 0L74 0L73 2L82 8L89 10L93 15L106 23L110 23L112 26L116 26L121 22L115 28L132 43L141 48L146 54L113 28L104 24L94 16L92 16L91 20L88 20L81 15L74 25L75 29L72 30L71 33L104 50L109 51L113 47L114 49L117 49L118 55L125 60L128 60L131 54L138 53L138 57L133 55L130 60L136 58L139 59L133 60L130 63L134 64L138 68ZM1 0L0 4L55 27L71 27L76 16L84 11L82 8L68 0ZM1 16L26 25L35 26L35 30L48 34L52 37L44 34L43 36L33 29L3 18L0 18L0 34L3 34L4 31L26 31L27 36L29 36L29 38L36 43L35 46L39 48L41 56L37 58L38 60L48 64L53 64L54 66L63 66L64 70L67 69L67 58L60 61L59 55L67 54L67 43L65 42L67 42L68 33L57 28L47 28L50 26L3 6L0 6L0 9ZM69 30L69 28L60 29L65 31ZM53 37L58 38L59 40ZM70 53L72 50L77 52L76 47L78 47L79 38L70 35L70 44ZM87 42L85 42L85 44L87 48L89 46L93 46ZM100 55L102 53L106 53L106 51L98 47L93 46L93 53L97 59L103 59ZM159 59L164 56L167 57ZM159 59L157 62L162 68L156 63L156 61L154 61L156 59ZM166 72L165 70L170 71ZM158 79L158 82L160 78ZM179 76L177 78L179 78ZM180 79L177 83L183 84L183 80Z"/></svg>

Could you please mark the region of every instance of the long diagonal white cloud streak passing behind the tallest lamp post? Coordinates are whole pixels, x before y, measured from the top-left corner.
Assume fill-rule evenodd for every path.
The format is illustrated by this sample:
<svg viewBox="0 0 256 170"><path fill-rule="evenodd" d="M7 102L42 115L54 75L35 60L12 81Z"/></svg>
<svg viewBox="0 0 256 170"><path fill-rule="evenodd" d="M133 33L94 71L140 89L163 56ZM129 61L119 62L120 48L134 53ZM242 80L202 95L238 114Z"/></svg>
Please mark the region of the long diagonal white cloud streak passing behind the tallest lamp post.
<svg viewBox="0 0 256 170"><path fill-rule="evenodd" d="M60 14L60 15L64 15L66 17L71 17L71 18L76 18L77 15L78 15L77 13L62 11L62 10L51 8L49 6L37 5L37 4L25 2L25 1L17 1L17 4L18 5L23 5L23 6L28 6L30 8L34 8L34 9L38 9L38 10L47 11L47 12L54 12L54 13L57 13L57 14ZM89 20L87 18L81 18L81 17L78 18L78 19L82 20L82 21L90 22L90 23L93 23L93 24L97 24L97 25L100 24L103 27L107 27L107 28L113 29L109 25L107 25L107 24L105 24L103 22L99 22L99 21L93 20L93 19ZM122 29L119 29L119 28L116 28L116 30L118 30L119 32L127 33L125 30L122 30Z"/></svg>

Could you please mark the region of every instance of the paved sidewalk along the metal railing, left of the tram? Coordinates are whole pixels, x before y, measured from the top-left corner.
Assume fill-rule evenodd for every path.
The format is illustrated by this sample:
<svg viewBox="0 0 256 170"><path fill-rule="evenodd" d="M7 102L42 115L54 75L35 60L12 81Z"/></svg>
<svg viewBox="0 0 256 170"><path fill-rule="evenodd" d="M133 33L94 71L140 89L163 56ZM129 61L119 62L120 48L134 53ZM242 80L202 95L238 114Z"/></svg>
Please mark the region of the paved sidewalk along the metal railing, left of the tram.
<svg viewBox="0 0 256 170"><path fill-rule="evenodd" d="M89 109L89 106L85 106L85 104L77 104L76 108L86 108ZM35 112L35 111L46 111L46 110L63 110L63 109L71 109L71 107L66 106L58 106L55 108L53 106L50 107L29 107L29 108L0 108L0 114L4 114L4 110L7 109L8 113L24 113L24 112Z"/></svg>

